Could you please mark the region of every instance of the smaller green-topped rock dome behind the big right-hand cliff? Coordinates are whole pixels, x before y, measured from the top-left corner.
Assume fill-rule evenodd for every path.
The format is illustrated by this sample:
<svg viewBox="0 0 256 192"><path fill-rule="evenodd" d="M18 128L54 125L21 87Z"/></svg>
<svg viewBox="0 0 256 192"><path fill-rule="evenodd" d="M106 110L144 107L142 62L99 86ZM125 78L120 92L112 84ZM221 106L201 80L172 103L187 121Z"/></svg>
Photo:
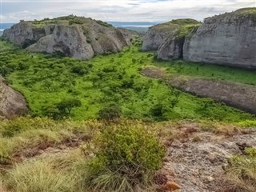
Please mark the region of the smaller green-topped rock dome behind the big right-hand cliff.
<svg viewBox="0 0 256 192"><path fill-rule="evenodd" d="M182 26L198 25L194 19L175 19L170 22L150 27L143 39L142 50L158 50L160 46L167 48L170 42L181 33ZM180 37L179 37L180 38ZM169 43L166 43L169 42ZM177 42L178 40L175 40ZM174 47L174 45L172 45ZM169 47L168 47L169 48ZM164 48L163 48L164 49Z"/></svg>

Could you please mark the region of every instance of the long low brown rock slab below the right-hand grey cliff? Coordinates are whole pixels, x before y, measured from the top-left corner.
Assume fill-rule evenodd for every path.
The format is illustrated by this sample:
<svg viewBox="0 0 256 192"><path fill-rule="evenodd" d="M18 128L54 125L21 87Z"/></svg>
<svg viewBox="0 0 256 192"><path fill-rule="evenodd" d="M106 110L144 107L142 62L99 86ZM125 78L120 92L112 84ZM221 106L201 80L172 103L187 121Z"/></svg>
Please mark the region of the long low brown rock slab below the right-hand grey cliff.
<svg viewBox="0 0 256 192"><path fill-rule="evenodd" d="M158 67L147 67L142 74L150 78L163 78L178 90L202 98L213 98L214 101L256 114L256 86L206 78L167 77Z"/></svg>

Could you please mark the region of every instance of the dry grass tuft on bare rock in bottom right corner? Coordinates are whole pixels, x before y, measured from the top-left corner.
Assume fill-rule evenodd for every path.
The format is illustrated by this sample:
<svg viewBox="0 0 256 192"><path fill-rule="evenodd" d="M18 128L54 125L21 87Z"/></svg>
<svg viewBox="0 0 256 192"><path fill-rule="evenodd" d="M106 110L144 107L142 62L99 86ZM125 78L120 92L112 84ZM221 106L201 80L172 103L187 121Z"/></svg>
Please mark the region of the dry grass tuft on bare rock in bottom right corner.
<svg viewBox="0 0 256 192"><path fill-rule="evenodd" d="M226 181L236 191L256 191L256 149L246 148L245 155L230 158Z"/></svg>

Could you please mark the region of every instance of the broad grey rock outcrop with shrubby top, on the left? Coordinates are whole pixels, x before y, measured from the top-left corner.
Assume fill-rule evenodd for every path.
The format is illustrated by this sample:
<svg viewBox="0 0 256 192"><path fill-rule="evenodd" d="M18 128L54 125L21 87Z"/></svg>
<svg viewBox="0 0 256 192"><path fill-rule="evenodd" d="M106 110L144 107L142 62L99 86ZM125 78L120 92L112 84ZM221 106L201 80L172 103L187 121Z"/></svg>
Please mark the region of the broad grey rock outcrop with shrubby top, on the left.
<svg viewBox="0 0 256 192"><path fill-rule="evenodd" d="M20 22L4 30L3 38L27 50L65 54L89 59L95 54L115 53L131 44L134 33L102 21L73 15Z"/></svg>

